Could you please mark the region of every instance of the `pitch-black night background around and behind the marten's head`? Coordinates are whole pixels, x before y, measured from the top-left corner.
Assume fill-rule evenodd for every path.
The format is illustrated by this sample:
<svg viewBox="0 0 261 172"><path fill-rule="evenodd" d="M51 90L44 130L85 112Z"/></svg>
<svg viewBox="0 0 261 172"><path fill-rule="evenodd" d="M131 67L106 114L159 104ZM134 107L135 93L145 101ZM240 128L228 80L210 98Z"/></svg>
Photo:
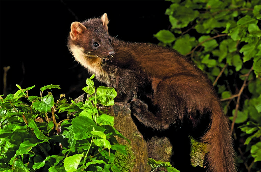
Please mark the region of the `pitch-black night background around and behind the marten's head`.
<svg viewBox="0 0 261 172"><path fill-rule="evenodd" d="M109 33L130 42L158 43L153 37L170 27L165 10L167 1L2 1L1 12L1 88L3 66L10 66L7 91L15 93L15 84L40 96L40 87L57 84L55 98L66 94L72 99L83 93L90 76L69 53L66 39L74 21L108 14ZM46 92L47 93L47 92Z"/></svg>

